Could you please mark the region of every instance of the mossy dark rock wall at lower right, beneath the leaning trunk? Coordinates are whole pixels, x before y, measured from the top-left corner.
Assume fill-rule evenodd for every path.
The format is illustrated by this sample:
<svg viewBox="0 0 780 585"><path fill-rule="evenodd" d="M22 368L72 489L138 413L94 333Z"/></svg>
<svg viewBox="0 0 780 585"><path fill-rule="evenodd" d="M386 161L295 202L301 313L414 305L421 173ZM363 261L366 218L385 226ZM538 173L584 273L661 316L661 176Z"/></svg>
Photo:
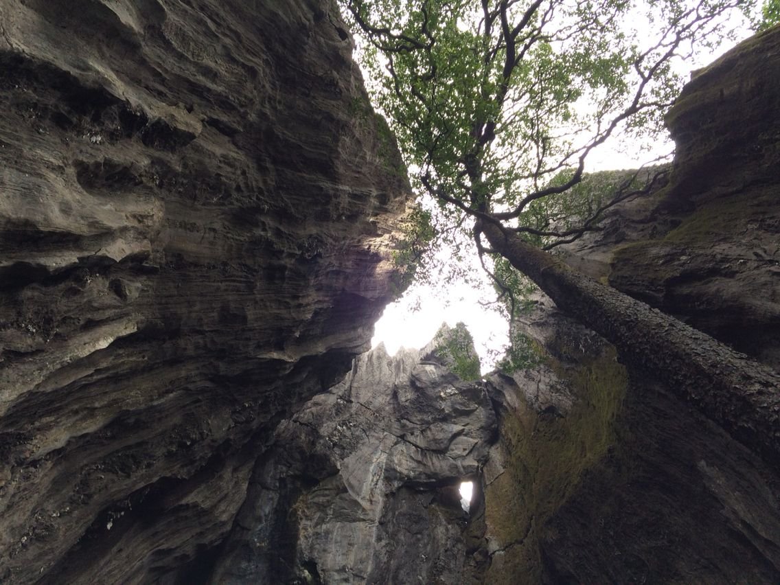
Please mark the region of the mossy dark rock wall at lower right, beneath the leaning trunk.
<svg viewBox="0 0 780 585"><path fill-rule="evenodd" d="M494 374L483 583L775 583L780 477L548 304Z"/></svg>

